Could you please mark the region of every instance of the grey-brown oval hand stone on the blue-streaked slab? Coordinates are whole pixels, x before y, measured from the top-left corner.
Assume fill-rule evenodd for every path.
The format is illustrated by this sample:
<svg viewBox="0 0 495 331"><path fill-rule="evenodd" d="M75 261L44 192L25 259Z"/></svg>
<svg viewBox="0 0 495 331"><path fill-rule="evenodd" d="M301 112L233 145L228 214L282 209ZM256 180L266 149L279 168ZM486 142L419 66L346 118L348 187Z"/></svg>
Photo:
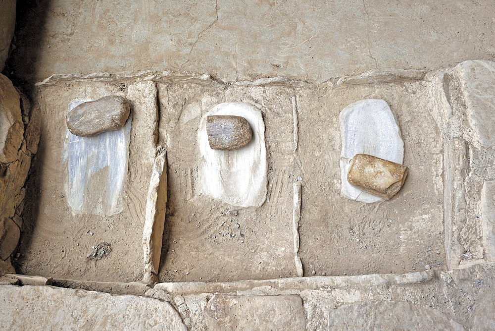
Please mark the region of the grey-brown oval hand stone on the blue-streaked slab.
<svg viewBox="0 0 495 331"><path fill-rule="evenodd" d="M67 127L76 136L93 137L102 132L118 130L129 117L130 107L120 96L106 96L87 101L67 113Z"/></svg>

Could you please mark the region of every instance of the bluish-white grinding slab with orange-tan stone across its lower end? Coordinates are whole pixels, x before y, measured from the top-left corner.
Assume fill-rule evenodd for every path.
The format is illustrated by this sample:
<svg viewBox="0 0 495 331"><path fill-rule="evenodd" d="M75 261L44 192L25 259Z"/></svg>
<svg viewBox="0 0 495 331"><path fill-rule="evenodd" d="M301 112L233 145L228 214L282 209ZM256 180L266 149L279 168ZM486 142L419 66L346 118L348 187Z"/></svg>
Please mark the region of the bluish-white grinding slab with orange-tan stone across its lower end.
<svg viewBox="0 0 495 331"><path fill-rule="evenodd" d="M340 113L342 139L341 180L342 194L351 200L365 203L383 201L363 192L347 181L349 162L356 154L368 154L398 164L404 161L404 142L396 116L387 102L366 99L348 105Z"/></svg>

